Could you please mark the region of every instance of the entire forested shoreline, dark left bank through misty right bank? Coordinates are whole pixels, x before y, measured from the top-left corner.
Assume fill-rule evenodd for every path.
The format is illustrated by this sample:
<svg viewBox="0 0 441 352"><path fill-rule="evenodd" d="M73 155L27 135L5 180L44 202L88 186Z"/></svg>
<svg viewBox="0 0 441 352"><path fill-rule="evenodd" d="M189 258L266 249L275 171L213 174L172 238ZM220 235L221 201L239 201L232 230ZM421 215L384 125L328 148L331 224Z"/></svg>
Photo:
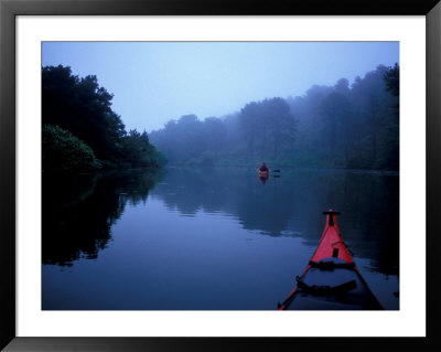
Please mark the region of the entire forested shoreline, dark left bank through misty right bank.
<svg viewBox="0 0 441 352"><path fill-rule="evenodd" d="M94 75L42 68L43 170L174 166L399 169L399 66L378 66L349 85L310 87L303 96L246 104L200 119L184 115L160 130L126 130L112 95Z"/></svg>

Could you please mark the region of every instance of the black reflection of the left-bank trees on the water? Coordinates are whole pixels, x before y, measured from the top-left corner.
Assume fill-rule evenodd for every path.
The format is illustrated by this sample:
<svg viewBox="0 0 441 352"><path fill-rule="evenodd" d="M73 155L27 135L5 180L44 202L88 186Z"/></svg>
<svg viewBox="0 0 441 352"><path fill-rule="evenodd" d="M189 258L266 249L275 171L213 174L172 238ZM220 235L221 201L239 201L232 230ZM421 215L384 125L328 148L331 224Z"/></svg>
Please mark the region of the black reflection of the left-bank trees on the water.
<svg viewBox="0 0 441 352"><path fill-rule="evenodd" d="M43 264L97 258L127 204L146 202L164 171L43 175Z"/></svg>

